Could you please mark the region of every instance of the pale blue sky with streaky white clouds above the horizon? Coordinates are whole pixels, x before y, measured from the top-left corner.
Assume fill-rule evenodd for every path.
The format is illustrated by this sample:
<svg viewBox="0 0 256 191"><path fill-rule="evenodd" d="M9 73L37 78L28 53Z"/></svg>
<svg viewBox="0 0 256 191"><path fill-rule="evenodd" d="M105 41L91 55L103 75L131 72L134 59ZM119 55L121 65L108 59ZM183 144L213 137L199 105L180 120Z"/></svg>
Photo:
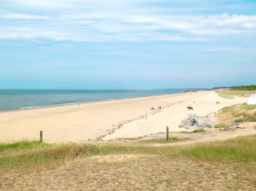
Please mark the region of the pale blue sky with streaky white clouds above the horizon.
<svg viewBox="0 0 256 191"><path fill-rule="evenodd" d="M0 0L0 89L256 84L256 1Z"/></svg>

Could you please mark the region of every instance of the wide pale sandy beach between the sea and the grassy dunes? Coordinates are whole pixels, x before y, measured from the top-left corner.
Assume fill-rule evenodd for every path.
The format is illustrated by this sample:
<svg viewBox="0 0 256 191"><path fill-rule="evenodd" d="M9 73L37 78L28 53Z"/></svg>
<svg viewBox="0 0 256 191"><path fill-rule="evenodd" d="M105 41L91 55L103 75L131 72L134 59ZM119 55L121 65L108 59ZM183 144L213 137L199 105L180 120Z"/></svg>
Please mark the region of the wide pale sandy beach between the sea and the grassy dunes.
<svg viewBox="0 0 256 191"><path fill-rule="evenodd" d="M4 111L0 112L0 142L39 139L41 128L45 142L139 137L165 132L166 126L169 131L185 131L179 125L188 115L207 115L238 103L247 103L247 98L226 100L217 93L197 91ZM186 109L189 105L194 110ZM150 109L152 106L155 110ZM158 110L159 106L163 109Z"/></svg>

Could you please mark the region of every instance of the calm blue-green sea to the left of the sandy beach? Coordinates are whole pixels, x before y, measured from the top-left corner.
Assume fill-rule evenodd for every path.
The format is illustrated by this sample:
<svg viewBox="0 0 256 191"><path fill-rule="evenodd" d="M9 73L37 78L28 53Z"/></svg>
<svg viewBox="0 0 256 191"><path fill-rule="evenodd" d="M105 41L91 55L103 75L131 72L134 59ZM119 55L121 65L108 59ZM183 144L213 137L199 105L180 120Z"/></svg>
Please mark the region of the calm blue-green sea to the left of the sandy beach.
<svg viewBox="0 0 256 191"><path fill-rule="evenodd" d="M188 89L0 89L0 111L183 93Z"/></svg>

